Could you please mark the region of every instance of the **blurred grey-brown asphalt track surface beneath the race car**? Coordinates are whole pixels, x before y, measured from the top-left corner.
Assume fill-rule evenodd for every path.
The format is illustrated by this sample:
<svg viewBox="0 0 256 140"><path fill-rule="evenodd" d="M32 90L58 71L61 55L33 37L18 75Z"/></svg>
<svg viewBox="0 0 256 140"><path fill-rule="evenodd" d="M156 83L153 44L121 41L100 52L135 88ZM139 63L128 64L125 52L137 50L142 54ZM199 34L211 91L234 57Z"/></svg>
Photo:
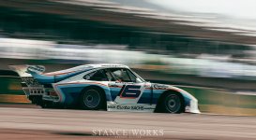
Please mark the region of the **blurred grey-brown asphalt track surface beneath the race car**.
<svg viewBox="0 0 256 140"><path fill-rule="evenodd" d="M0 139L256 139L256 117L16 106L0 105Z"/></svg>

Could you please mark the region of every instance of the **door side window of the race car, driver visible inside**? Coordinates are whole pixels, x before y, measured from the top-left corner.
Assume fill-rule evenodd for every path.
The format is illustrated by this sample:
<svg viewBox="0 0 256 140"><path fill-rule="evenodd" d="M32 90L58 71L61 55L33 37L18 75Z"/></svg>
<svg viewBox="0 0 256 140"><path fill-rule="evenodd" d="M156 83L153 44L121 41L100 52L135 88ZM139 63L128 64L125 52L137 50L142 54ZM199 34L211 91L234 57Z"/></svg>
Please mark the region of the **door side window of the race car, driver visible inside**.
<svg viewBox="0 0 256 140"><path fill-rule="evenodd" d="M128 76L127 69L113 68L110 69L115 80L120 82L132 82Z"/></svg>

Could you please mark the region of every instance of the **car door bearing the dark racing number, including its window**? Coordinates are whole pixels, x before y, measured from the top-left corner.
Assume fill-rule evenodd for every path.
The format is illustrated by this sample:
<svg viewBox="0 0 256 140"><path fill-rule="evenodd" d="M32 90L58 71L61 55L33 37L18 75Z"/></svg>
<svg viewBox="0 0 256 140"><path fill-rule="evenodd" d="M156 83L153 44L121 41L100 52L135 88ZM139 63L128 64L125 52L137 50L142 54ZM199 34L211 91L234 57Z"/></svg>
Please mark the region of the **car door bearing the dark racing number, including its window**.
<svg viewBox="0 0 256 140"><path fill-rule="evenodd" d="M109 83L113 102L116 104L138 104L146 85L143 81L138 81L136 76L127 68L110 68L109 75L113 81Z"/></svg>

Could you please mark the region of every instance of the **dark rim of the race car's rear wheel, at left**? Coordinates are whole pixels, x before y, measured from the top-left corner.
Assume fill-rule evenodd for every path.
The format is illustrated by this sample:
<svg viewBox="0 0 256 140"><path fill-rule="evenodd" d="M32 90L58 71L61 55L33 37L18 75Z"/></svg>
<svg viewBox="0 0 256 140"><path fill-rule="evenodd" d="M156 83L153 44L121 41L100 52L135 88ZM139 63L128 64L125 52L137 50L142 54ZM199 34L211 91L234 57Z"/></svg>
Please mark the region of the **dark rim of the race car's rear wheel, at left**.
<svg viewBox="0 0 256 140"><path fill-rule="evenodd" d="M96 90L88 90L83 95L83 104L89 108L97 107L100 102L99 92Z"/></svg>

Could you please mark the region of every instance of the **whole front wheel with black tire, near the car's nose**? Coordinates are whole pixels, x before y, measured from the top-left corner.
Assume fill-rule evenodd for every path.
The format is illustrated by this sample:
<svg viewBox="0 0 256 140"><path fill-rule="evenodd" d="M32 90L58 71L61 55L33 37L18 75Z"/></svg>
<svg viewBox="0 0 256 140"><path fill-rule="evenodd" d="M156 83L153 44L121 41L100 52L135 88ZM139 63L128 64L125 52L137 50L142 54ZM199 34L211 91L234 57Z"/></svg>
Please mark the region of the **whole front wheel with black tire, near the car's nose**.
<svg viewBox="0 0 256 140"><path fill-rule="evenodd" d="M177 93L168 93L161 101L160 107L165 113L181 113L184 110L183 97Z"/></svg>

